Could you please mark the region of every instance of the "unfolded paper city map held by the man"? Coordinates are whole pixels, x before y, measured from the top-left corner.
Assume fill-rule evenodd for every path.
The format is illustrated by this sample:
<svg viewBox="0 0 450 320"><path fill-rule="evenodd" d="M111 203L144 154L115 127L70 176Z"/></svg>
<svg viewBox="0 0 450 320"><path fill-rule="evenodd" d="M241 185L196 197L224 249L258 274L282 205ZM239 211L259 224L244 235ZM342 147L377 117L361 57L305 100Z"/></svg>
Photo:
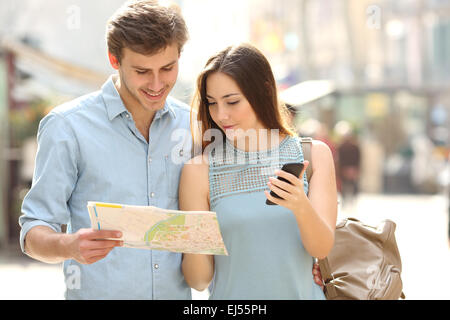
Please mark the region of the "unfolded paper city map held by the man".
<svg viewBox="0 0 450 320"><path fill-rule="evenodd" d="M215 212L92 201L87 207L92 228L121 231L124 247L228 255Z"/></svg>

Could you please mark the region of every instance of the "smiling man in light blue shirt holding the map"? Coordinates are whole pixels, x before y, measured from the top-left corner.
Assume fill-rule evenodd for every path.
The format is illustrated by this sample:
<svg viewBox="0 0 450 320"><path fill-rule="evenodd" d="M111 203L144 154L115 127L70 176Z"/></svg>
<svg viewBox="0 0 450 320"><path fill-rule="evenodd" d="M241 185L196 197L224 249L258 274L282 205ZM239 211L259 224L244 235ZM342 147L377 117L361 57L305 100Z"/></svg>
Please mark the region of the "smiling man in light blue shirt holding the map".
<svg viewBox="0 0 450 320"><path fill-rule="evenodd" d="M178 209L179 175L191 150L190 109L168 94L187 37L174 8L126 3L107 27L118 75L40 124L20 243L37 260L64 261L67 299L191 299L181 254L101 240L121 235L90 229L86 208L87 201L101 201ZM183 143L171 139L179 128Z"/></svg>

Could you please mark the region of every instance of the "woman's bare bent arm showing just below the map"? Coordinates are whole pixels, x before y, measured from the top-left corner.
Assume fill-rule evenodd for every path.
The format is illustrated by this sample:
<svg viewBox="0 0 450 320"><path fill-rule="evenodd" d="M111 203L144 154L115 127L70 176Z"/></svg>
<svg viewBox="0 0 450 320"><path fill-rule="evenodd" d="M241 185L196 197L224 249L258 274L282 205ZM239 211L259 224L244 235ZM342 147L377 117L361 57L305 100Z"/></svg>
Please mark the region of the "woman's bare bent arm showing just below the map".
<svg viewBox="0 0 450 320"><path fill-rule="evenodd" d="M203 291L214 276L214 256L184 253L181 270L191 288Z"/></svg>

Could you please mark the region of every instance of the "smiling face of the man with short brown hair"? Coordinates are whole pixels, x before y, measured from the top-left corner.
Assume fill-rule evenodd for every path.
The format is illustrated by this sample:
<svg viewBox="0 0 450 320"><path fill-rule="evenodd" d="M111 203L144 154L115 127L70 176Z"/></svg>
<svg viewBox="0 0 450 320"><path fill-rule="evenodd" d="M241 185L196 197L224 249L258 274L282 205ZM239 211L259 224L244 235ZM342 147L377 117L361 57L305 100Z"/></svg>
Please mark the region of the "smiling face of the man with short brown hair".
<svg viewBox="0 0 450 320"><path fill-rule="evenodd" d="M118 64L120 93L125 95L124 100L138 104L146 111L162 109L177 80L178 59L176 44L151 56L124 48L122 61Z"/></svg>

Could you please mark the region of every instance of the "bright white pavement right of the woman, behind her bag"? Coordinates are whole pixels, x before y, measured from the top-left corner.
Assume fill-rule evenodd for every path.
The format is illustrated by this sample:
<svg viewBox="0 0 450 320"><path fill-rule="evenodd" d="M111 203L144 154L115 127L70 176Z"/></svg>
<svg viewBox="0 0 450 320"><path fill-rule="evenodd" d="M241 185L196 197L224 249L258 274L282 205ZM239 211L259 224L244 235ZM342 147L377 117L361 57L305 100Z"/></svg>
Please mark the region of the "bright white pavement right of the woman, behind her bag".
<svg viewBox="0 0 450 320"><path fill-rule="evenodd" d="M353 216L367 224L390 219L402 258L406 299L449 300L450 270L448 207L443 196L362 195L353 210L340 211L338 220Z"/></svg>

